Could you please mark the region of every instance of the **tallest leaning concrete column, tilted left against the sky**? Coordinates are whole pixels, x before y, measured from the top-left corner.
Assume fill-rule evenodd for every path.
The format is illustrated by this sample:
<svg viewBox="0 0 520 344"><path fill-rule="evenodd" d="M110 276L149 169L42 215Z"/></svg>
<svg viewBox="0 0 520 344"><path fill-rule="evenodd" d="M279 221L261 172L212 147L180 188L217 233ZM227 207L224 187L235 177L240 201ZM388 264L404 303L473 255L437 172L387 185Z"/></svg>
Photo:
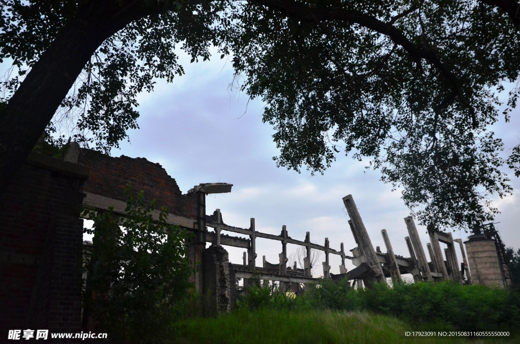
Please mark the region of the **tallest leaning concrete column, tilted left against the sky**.
<svg viewBox="0 0 520 344"><path fill-rule="evenodd" d="M362 253L365 255L370 268L372 268L375 281L386 283L383 269L375 255L374 246L372 246L370 236L367 233L365 224L363 224L363 221L361 220L361 216L359 215L352 195L343 197L343 204L345 205L350 221L352 222L350 229L352 229L355 234L354 239L356 239L357 236L359 247L362 249Z"/></svg>

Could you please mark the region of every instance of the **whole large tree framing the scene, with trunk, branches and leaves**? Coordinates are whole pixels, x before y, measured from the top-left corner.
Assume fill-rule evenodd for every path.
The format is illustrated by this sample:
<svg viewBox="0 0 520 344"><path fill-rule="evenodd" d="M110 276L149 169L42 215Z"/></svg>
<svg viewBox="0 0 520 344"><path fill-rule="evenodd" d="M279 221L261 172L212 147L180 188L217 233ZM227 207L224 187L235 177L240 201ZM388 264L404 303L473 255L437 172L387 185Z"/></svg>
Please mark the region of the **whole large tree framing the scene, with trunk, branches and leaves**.
<svg viewBox="0 0 520 344"><path fill-rule="evenodd" d="M518 78L514 0L0 3L0 59L22 68L4 84L0 188L45 128L58 130L60 105L75 139L108 149L125 138L135 95L183 73L179 44L192 61L210 44L234 54L242 89L267 103L278 166L323 173L343 145L423 206L422 224L491 219L488 196L511 191L500 167L520 174L520 147L505 161L488 128L516 106L517 89L506 109L497 97Z"/></svg>

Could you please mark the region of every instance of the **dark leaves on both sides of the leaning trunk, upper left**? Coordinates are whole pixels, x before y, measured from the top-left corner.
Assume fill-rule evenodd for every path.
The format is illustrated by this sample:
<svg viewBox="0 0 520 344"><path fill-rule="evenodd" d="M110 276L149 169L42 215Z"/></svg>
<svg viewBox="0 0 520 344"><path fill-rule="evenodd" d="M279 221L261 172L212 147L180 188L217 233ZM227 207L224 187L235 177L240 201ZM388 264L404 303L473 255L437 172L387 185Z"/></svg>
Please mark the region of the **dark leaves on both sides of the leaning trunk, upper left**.
<svg viewBox="0 0 520 344"><path fill-rule="evenodd" d="M75 0L0 3L0 62L12 59L12 68L1 83L2 100L8 100L60 31L81 20L89 4ZM132 2L119 3L123 9ZM148 11L149 5L142 1L142 10ZM184 74L175 48L197 61L209 59L208 48L216 44L218 34L212 25L222 6L205 0L165 2L161 13L131 21L106 37L48 124L47 133L54 135L47 140L62 145L71 137L107 153L119 147L128 138L127 130L138 128L137 95L152 91L157 78L171 82L175 75Z"/></svg>

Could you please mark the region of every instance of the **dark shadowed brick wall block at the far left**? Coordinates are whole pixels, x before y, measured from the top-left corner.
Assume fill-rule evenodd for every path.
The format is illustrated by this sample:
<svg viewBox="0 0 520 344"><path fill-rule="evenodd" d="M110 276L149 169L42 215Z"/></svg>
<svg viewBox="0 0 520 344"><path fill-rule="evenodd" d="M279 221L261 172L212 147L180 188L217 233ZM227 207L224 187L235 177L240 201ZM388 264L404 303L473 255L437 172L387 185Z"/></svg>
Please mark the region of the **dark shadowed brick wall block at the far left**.
<svg viewBox="0 0 520 344"><path fill-rule="evenodd" d="M0 194L0 342L81 325L84 167L32 153Z"/></svg>

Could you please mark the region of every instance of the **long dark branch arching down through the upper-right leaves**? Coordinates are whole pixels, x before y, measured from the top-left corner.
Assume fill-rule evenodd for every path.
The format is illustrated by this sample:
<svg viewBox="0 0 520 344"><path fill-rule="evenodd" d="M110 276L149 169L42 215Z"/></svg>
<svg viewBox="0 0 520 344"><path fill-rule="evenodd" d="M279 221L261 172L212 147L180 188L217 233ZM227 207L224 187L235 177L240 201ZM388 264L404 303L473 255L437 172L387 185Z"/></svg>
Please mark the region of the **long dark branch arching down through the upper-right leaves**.
<svg viewBox="0 0 520 344"><path fill-rule="evenodd" d="M421 60L424 59L433 65L433 67L435 67L441 75L444 75L453 92L459 98L460 102L464 105L465 108L469 110L473 128L477 127L478 123L475 115L475 109L464 97L457 77L439 60L435 50L425 45L422 45L420 48L416 47L393 25L382 22L379 19L365 15L361 12L344 10L343 8L339 7L309 8L293 0L250 0L250 2L268 7L270 9L278 10L289 17L293 17L299 20L313 23L320 21L348 22L351 24L359 24L369 30L379 32L387 36L388 38L392 39L395 44L405 49L407 54L417 65L420 65Z"/></svg>

